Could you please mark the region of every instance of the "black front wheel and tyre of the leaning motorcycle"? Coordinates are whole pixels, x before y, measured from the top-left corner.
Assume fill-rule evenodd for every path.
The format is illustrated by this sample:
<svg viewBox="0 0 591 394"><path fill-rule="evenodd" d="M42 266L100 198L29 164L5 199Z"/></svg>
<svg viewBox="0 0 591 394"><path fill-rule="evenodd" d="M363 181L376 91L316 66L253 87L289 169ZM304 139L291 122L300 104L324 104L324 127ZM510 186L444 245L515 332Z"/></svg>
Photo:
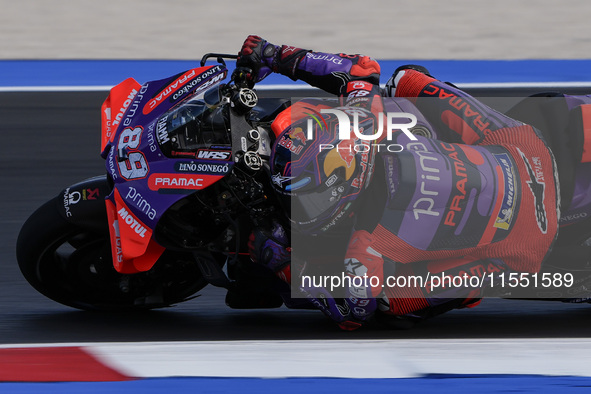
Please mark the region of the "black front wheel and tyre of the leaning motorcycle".
<svg viewBox="0 0 591 394"><path fill-rule="evenodd" d="M192 254L168 250L147 272L118 273L106 221L103 231L73 224L60 215L60 199L37 209L17 240L20 270L44 296L82 310L145 310L185 301L207 285Z"/></svg>

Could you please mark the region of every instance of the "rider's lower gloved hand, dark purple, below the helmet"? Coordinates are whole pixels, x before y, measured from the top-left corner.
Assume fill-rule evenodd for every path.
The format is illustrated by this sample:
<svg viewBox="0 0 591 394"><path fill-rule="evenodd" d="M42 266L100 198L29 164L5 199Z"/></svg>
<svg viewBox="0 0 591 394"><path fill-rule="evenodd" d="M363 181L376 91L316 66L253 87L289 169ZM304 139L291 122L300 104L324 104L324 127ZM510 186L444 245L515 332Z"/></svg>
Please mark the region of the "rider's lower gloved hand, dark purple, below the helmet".
<svg viewBox="0 0 591 394"><path fill-rule="evenodd" d="M255 228L248 239L250 258L255 263L262 264L289 282L287 275L291 261L289 239L283 227L273 223L271 229Z"/></svg>

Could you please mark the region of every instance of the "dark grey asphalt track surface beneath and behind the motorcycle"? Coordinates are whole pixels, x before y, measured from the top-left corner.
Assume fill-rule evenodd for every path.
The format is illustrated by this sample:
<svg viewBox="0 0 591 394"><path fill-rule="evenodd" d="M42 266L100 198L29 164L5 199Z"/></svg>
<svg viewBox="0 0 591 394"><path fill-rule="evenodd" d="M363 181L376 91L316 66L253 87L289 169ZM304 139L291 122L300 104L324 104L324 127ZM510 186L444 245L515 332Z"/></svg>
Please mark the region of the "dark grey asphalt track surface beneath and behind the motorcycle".
<svg viewBox="0 0 591 394"><path fill-rule="evenodd" d="M496 92L508 93L512 94ZM370 326L346 333L317 311L231 310L224 304L224 292L213 287L176 307L138 314L83 312L46 299L20 274L17 234L43 202L72 183L104 173L99 134L100 104L105 97L106 92L0 94L0 344L583 338L591 333L591 305L550 301L489 299L477 308L450 312L412 330Z"/></svg>

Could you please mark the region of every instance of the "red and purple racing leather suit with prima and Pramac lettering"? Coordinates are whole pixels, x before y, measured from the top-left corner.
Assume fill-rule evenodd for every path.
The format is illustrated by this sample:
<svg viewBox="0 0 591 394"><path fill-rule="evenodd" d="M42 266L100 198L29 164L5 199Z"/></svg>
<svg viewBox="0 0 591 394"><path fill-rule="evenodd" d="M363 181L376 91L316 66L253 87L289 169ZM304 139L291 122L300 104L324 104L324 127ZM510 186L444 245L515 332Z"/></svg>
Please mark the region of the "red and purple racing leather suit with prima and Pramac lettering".
<svg viewBox="0 0 591 394"><path fill-rule="evenodd" d="M342 328L356 328L378 307L397 316L426 316L441 305L445 311L470 303L451 299L481 295L481 287L434 289L430 276L540 270L557 235L559 197L554 158L535 128L413 69L398 73L395 98L383 98L379 64L369 57L286 45L270 52L266 72L303 80L376 117L417 114L421 132L415 139L393 134L391 142L404 149L379 152L356 212L345 266L379 283L349 289L353 319L342 307L325 305ZM421 286L385 283L387 276L417 274L427 279Z"/></svg>

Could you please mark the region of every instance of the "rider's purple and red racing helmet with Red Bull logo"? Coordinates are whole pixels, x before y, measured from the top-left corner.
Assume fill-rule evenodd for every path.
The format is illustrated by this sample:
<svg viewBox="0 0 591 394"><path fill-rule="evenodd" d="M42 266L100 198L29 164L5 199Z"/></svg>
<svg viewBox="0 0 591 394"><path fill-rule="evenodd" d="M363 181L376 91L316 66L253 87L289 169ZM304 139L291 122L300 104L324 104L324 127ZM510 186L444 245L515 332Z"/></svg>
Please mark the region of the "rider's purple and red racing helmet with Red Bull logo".
<svg viewBox="0 0 591 394"><path fill-rule="evenodd" d="M355 111L364 116L359 120L360 133L373 134L371 113ZM353 132L352 138L339 139L334 114L310 108L298 112L315 113L300 119L292 116L291 124L278 134L271 155L271 181L289 212L292 230L320 235L349 223L360 193L369 185L375 150L372 141Z"/></svg>

